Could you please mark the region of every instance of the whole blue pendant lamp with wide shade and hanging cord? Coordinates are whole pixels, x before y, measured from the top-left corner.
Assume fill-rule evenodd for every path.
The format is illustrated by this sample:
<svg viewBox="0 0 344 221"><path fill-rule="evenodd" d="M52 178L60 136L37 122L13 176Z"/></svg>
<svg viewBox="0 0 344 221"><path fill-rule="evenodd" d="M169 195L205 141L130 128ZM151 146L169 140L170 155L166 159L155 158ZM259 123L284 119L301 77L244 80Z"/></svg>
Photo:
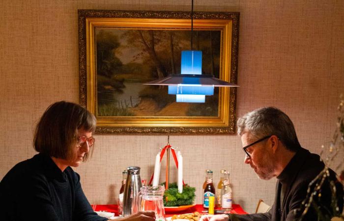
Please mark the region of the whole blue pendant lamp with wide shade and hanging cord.
<svg viewBox="0 0 344 221"><path fill-rule="evenodd" d="M205 95L213 95L214 87L237 87L213 75L202 75L202 52L193 50L194 0L191 2L191 50L181 52L180 74L171 74L148 85L168 85L168 93L176 95L176 102L204 103Z"/></svg>

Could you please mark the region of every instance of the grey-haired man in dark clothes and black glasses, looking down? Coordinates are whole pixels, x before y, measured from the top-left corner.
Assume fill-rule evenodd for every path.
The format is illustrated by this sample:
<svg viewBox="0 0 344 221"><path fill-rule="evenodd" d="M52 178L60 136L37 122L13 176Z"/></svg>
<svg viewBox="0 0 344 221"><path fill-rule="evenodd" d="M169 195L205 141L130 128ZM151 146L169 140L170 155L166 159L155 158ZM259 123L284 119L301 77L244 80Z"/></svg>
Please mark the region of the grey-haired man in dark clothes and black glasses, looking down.
<svg viewBox="0 0 344 221"><path fill-rule="evenodd" d="M324 164L318 155L301 147L293 123L284 112L273 107L261 108L241 117L237 127L246 154L245 164L249 164L260 179L277 177L275 202L268 213L207 215L200 221L316 221L316 211L323 216L319 216L320 220L341 214L343 186L329 169L329 180L334 181L337 187L335 207L338 208L331 205L332 193L326 179L321 195L314 196L317 210L311 206L302 216L305 211L302 202L307 196L308 186L323 170Z"/></svg>

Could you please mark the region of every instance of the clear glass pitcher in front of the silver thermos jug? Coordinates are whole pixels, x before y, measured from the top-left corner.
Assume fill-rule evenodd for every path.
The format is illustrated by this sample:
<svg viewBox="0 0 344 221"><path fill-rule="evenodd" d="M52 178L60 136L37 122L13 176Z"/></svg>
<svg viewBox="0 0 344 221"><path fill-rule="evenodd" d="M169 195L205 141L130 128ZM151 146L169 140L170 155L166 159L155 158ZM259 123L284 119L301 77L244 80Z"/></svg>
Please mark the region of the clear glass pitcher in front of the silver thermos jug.
<svg viewBox="0 0 344 221"><path fill-rule="evenodd" d="M154 211L156 221L166 221L163 197L164 186L141 187L137 198L139 211Z"/></svg>

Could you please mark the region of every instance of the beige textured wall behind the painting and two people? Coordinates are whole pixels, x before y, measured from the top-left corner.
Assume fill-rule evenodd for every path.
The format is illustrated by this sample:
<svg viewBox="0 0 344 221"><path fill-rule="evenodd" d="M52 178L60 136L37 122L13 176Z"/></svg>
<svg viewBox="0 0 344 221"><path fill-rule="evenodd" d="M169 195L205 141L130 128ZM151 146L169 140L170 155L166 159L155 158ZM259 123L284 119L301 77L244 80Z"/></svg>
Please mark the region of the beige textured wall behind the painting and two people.
<svg viewBox="0 0 344 221"><path fill-rule="evenodd" d="M30 158L34 124L49 104L78 102L77 9L190 10L185 0L1 0L0 178ZM312 152L335 128L344 92L343 0L195 0L196 11L239 11L237 115L276 106ZM149 179L167 136L95 135L93 158L76 170L90 203L115 203L126 166ZM273 203L276 180L261 181L243 164L236 136L172 136L184 156L186 183L201 203L204 170L231 173L234 200L253 212ZM130 156L130 157L129 157ZM162 168L163 175L164 167ZM175 179L175 174L172 174ZM25 185L25 184L23 184Z"/></svg>

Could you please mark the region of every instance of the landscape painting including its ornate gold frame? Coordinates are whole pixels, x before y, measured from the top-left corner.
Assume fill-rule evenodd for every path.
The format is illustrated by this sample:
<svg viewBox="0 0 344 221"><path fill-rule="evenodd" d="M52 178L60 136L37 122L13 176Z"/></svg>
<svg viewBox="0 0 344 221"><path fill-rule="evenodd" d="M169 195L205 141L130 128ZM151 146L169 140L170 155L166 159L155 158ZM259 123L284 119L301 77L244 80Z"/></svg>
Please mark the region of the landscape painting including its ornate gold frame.
<svg viewBox="0 0 344 221"><path fill-rule="evenodd" d="M202 74L236 83L238 12L79 10L80 103L98 134L234 134L236 88L177 103L167 86L181 51L202 51Z"/></svg>

